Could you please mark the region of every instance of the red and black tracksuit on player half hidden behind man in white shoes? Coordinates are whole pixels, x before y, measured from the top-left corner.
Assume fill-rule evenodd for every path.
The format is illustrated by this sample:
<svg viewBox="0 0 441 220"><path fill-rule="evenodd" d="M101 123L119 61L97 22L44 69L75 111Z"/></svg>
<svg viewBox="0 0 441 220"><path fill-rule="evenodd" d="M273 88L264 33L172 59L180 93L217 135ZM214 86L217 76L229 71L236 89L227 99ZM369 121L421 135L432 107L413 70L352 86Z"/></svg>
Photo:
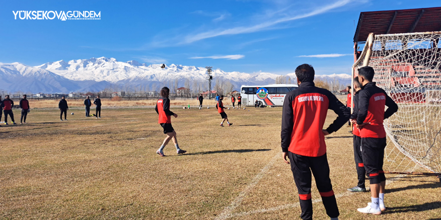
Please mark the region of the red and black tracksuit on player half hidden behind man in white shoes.
<svg viewBox="0 0 441 220"><path fill-rule="evenodd" d="M354 99L354 105L353 105L353 111L350 116L350 119L357 119L358 114L358 93L360 90L355 91L353 99ZM360 146L360 130L356 127L356 123L352 124L352 134L354 134L353 137L353 143L354 143L354 160L355 160L355 167L357 169L357 179L358 183L357 186L361 188L366 188L365 181L366 181L366 170L364 169L363 164L363 157L361 155L361 146Z"/></svg>

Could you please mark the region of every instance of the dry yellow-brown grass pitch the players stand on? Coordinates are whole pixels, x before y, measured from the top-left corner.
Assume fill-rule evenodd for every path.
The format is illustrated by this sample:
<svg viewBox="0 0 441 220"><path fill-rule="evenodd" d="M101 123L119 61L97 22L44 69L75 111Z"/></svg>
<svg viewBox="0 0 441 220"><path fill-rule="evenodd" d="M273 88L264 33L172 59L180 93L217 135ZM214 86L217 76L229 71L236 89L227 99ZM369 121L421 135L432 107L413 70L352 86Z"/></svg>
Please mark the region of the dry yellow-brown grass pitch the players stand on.
<svg viewBox="0 0 441 220"><path fill-rule="evenodd" d="M231 127L219 127L215 108L171 110L183 155L171 143L168 156L155 153L165 135L153 108L103 107L102 119L70 109L68 121L58 109L33 109L28 124L3 125L0 218L300 219L281 158L280 107L226 110ZM334 118L330 111L325 126ZM388 210L357 212L370 193L346 190L356 184L347 130L326 139L340 219L441 219L441 184L432 176L387 174ZM312 198L314 218L328 219L314 182Z"/></svg>

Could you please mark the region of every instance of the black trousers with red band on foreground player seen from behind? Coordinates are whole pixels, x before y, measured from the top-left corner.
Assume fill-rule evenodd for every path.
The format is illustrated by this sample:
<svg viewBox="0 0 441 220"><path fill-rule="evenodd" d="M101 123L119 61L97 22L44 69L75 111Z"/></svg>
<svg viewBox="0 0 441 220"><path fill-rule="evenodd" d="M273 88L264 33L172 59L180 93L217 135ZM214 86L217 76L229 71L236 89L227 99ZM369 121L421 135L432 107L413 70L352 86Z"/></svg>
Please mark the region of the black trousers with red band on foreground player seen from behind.
<svg viewBox="0 0 441 220"><path fill-rule="evenodd" d="M311 199L311 171L314 175L317 189L322 196L323 205L329 217L338 217L337 201L332 190L331 179L329 178L329 164L326 153L321 156L302 156L288 152L291 170L293 171L294 181L299 192L300 217L305 220L312 219L312 199Z"/></svg>

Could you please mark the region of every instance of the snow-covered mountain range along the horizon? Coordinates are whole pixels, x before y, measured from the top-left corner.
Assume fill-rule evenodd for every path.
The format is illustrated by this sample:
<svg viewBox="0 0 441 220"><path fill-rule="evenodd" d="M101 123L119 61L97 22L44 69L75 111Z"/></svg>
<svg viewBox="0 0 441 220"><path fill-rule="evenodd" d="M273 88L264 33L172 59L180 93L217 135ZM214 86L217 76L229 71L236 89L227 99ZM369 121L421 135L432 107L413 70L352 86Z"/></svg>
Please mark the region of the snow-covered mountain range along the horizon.
<svg viewBox="0 0 441 220"><path fill-rule="evenodd" d="M115 58L74 59L70 61L47 62L38 66L28 66L19 62L0 63L0 89L10 92L62 92L100 91L107 86L140 86L159 88L169 81L178 79L179 86L184 81L205 82L204 67L185 65L166 65L127 62ZM219 80L230 80L235 89L245 84L271 84L278 74L269 72L245 73L213 70L213 76ZM289 73L295 82L295 73ZM316 75L324 80L337 80L340 84L350 83L348 74Z"/></svg>

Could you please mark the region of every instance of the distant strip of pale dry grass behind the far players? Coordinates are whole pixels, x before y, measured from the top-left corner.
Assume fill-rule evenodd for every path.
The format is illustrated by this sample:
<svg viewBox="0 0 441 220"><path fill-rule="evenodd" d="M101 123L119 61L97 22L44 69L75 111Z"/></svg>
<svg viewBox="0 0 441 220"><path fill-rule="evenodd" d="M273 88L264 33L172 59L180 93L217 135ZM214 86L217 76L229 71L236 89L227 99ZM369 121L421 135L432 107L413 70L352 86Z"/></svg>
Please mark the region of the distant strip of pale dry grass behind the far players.
<svg viewBox="0 0 441 220"><path fill-rule="evenodd" d="M92 98L91 101L93 102L95 99ZM29 99L29 105L31 108L54 108L58 107L58 102L60 99ZM84 99L82 98L68 98L68 105L69 107L84 107ZM154 106L156 104L157 99L144 99L144 100L121 100L121 101L115 101L111 100L110 98L101 98L102 106L103 107L130 107L130 106ZM18 104L18 102L17 102ZM199 105L199 101L193 98L189 99L177 99L171 101L172 106L185 106L188 104L190 105ZM211 99L204 99L203 104L207 105L215 105L216 102ZM92 107L95 105L92 104Z"/></svg>

